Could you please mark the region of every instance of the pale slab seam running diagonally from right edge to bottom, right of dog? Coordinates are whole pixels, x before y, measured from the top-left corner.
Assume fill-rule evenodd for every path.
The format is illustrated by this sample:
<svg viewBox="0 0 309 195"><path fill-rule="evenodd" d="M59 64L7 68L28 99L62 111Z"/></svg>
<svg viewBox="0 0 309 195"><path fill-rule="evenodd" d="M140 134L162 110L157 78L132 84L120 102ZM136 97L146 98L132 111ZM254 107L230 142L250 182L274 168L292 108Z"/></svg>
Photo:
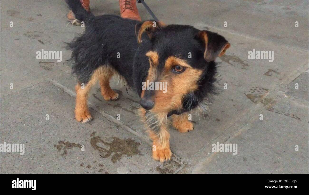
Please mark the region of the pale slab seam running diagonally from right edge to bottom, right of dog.
<svg viewBox="0 0 309 195"><path fill-rule="evenodd" d="M287 76L285 80L282 80L281 83L279 83L278 85L274 85L272 87L272 89L269 90L263 98L271 96L270 98L275 100L278 96L280 96L279 92L281 91L281 88L286 88L286 86L290 82L293 82L301 74L307 72L308 66L309 66L309 64L308 64L308 62L306 62L303 66L296 69L294 72L292 72L290 74L290 76ZM220 134L217 137L218 140L223 140L223 143L225 144L225 143L228 143L229 140L232 140L232 139L236 138L237 136L239 136L240 134L242 134L245 130L249 129L252 126L252 121L256 120L256 116L255 116L256 112L258 110L264 111L265 108L269 104L272 104L272 102L269 102L268 104L263 104L263 103L259 102L256 105L252 106L249 109L249 112L245 113L246 116L251 116L251 117L249 117L249 119L247 121L245 121L244 124L243 123L237 124L240 121L240 119L244 116L244 114L242 114L240 117L238 117L238 120L235 123L231 124L228 128L226 128L226 129L230 129L231 127L234 126L233 129L237 129L237 130L235 130L234 133L232 133L229 136L224 134L224 133ZM223 132L225 132L225 131L223 131ZM228 138L226 138L226 137L228 137ZM196 157L197 155L199 155L200 153L202 153L203 151L205 151L205 149L209 146L210 146L210 144L207 144L206 146L204 146L201 150L199 150L199 152L197 152L195 155L193 155L193 158ZM196 163L196 165L192 168L191 173L199 173L203 167L207 166L207 164L209 164L211 162L211 160L214 158L214 156L216 154L217 154L217 152L213 152L209 155L206 155L205 158L202 158L201 160L199 160L198 163Z"/></svg>

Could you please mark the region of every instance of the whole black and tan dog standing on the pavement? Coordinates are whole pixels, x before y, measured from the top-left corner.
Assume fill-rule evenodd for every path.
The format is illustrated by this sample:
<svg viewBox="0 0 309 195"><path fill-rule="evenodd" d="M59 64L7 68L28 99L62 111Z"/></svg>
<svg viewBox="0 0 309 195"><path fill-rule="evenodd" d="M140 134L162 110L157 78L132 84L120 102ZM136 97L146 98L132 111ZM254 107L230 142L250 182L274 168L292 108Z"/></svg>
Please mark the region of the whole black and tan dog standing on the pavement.
<svg viewBox="0 0 309 195"><path fill-rule="evenodd" d="M79 0L67 2L86 25L84 34L67 46L78 77L76 120L91 120L87 93L97 81L105 100L119 98L109 86L109 80L118 74L141 97L141 115L155 145L153 158L161 162L171 159L167 117L171 116L178 131L193 130L188 113L213 93L214 60L230 44L216 33L189 25L138 22L116 15L95 17ZM167 83L167 90L145 90L143 82Z"/></svg>

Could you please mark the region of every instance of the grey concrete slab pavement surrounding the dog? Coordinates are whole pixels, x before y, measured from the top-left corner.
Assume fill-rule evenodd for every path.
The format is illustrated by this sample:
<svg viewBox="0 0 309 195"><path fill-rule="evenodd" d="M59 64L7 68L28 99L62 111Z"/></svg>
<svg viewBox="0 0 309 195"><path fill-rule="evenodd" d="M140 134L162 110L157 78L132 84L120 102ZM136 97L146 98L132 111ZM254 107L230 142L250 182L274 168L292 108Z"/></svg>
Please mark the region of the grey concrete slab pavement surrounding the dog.
<svg viewBox="0 0 309 195"><path fill-rule="evenodd" d="M64 1L1 0L0 141L24 143L25 154L1 152L0 172L308 173L308 1L146 2L167 24L218 32L231 43L218 59L221 90L210 112L192 116L192 132L170 127L172 160L152 159L138 96L117 78L118 101L104 101L97 86L89 98L94 120L74 120L76 79L63 42L83 28L68 24ZM119 6L92 0L91 11L118 15ZM37 60L41 49L62 51L62 61ZM273 61L248 59L253 49L273 51ZM213 152L218 142L237 144L237 154Z"/></svg>

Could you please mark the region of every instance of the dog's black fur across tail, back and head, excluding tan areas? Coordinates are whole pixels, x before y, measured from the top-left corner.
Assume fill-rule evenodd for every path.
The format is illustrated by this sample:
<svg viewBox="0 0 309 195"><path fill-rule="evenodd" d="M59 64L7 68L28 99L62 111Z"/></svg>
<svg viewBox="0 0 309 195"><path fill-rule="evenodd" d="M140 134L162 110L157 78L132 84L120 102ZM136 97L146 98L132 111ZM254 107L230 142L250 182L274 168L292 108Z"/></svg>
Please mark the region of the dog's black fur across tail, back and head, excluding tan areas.
<svg viewBox="0 0 309 195"><path fill-rule="evenodd" d="M66 2L75 17L84 21L86 26L85 33L67 45L67 48L72 50L73 72L80 83L87 83L94 70L108 64L125 78L127 84L133 87L138 95L141 95L142 82L145 81L150 66L145 54L153 50L159 53L158 72L163 69L169 56L180 57L193 68L203 70L198 90L184 98L184 109L172 111L169 115L196 108L208 94L214 92L216 63L204 59L205 43L197 37L200 30L189 25L167 25L150 32L151 39L147 33L143 33L142 43L138 45L134 31L135 26L141 24L138 21L116 15L95 17L82 8L79 0ZM216 33L206 32L209 35L208 49L214 54L220 52L220 47L227 41ZM118 52L120 58L117 58ZM188 58L189 52L192 53L192 58Z"/></svg>

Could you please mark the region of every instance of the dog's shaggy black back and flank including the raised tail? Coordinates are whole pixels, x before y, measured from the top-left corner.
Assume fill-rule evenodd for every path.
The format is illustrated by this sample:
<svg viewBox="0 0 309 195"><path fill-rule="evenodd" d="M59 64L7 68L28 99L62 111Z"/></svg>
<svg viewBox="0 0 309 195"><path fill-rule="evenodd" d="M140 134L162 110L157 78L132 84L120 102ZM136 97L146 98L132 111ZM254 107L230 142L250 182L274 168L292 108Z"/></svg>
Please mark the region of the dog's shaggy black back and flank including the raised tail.
<svg viewBox="0 0 309 195"><path fill-rule="evenodd" d="M67 48L72 50L72 69L80 83L87 83L99 66L111 66L129 85L132 63L138 48L134 26L138 21L116 15L95 17L85 11L79 1L68 0L75 17L85 22L85 33L76 37ZM80 9L76 7L80 7Z"/></svg>

